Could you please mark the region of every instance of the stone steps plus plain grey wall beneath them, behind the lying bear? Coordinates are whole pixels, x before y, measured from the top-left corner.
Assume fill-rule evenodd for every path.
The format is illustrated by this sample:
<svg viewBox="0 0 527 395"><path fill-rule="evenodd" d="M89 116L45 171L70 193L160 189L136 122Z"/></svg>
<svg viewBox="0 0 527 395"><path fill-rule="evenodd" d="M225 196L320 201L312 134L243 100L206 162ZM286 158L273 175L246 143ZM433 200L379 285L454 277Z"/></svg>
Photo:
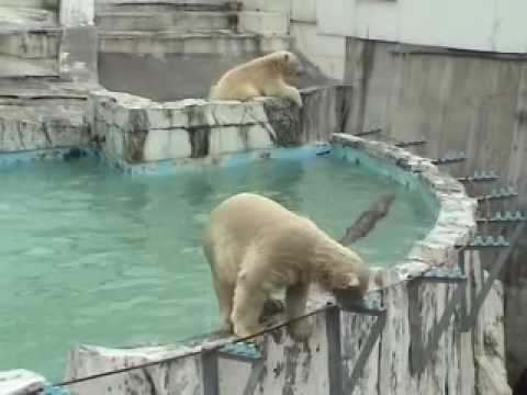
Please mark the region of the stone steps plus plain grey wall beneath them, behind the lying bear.
<svg viewBox="0 0 527 395"><path fill-rule="evenodd" d="M203 98L233 65L290 48L287 11L227 0L97 0L96 24L101 83L157 101Z"/></svg>

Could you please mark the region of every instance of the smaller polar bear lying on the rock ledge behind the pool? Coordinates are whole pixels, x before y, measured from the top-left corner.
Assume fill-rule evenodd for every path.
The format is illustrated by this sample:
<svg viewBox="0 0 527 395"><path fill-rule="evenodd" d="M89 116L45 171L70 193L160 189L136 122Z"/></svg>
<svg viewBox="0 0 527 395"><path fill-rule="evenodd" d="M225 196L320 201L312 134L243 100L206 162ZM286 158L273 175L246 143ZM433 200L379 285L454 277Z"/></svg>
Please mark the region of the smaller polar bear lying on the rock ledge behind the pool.
<svg viewBox="0 0 527 395"><path fill-rule="evenodd" d="M255 97L285 98L302 106L299 90L285 82L303 70L299 58L279 50L236 66L211 88L212 100L247 100Z"/></svg>

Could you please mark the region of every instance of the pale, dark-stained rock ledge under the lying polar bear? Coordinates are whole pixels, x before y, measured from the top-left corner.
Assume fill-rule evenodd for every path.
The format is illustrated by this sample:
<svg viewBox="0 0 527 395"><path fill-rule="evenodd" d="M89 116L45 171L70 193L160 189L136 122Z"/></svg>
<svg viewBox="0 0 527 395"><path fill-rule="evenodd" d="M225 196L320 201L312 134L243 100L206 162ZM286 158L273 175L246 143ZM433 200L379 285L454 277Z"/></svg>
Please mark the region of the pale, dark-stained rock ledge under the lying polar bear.
<svg viewBox="0 0 527 395"><path fill-rule="evenodd" d="M302 110L272 98L158 103L106 90L92 92L89 102L93 134L105 140L109 158L126 166L328 142L339 132L338 109L347 92L346 87L306 90Z"/></svg>

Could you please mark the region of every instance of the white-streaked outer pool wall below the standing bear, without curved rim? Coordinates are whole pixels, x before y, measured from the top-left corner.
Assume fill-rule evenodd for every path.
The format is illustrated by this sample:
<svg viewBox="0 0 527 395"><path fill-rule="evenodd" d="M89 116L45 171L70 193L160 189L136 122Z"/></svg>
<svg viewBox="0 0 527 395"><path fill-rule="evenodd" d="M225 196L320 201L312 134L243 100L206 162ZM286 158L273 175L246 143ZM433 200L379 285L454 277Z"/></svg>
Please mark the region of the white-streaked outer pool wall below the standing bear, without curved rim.
<svg viewBox="0 0 527 395"><path fill-rule="evenodd" d="M468 289L481 290L484 276L478 257L474 255L468 263ZM313 335L304 343L294 342L283 328L274 330L262 341L264 359L253 366L218 359L217 393L204 388L204 375L211 372L203 370L199 357L88 380L68 390L72 395L509 395L504 382L500 284L493 286L475 326L464 332L459 330L459 319L449 316L455 295L459 296L456 285L400 284L384 293L389 308L385 317L341 313L343 359L333 363L328 358L335 335L328 332L332 324L327 314L314 317ZM434 334L431 328L445 317L447 325ZM437 342L430 341L436 335ZM70 352L67 377L83 377L197 350L198 347L78 347ZM343 392L337 392L329 379L335 377L338 368L343 369Z"/></svg>

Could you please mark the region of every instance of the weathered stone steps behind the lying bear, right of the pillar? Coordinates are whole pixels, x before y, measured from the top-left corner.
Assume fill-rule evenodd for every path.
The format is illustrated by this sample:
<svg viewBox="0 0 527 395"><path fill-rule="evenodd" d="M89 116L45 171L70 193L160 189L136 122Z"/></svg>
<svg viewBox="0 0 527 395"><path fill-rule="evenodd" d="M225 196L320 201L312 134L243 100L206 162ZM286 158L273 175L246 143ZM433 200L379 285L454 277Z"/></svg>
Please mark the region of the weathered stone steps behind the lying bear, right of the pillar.
<svg viewBox="0 0 527 395"><path fill-rule="evenodd" d="M289 47L285 12L243 11L239 2L98 0L96 24L102 53L236 55Z"/></svg>

